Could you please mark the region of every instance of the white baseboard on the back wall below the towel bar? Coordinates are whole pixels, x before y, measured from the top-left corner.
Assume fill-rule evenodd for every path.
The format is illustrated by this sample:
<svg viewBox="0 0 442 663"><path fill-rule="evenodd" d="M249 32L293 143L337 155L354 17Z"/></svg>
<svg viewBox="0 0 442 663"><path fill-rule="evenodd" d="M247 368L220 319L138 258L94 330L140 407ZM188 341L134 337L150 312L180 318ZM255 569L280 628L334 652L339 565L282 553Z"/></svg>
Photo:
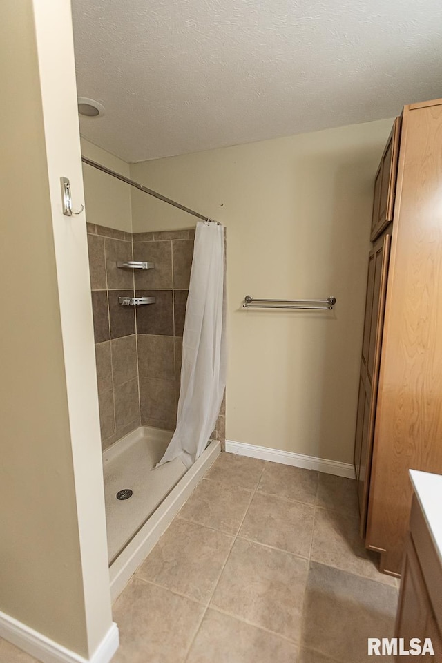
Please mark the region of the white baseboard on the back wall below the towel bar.
<svg viewBox="0 0 442 663"><path fill-rule="evenodd" d="M291 451L258 447L255 444L244 444L243 442L234 442L233 440L226 440L226 451L231 454L238 454L239 456L249 456L251 458L259 458L262 461L271 461L271 463L282 463L283 465L292 465L295 468L336 474L337 477L355 478L353 465L338 461L329 461L326 458L294 454Z"/></svg>

